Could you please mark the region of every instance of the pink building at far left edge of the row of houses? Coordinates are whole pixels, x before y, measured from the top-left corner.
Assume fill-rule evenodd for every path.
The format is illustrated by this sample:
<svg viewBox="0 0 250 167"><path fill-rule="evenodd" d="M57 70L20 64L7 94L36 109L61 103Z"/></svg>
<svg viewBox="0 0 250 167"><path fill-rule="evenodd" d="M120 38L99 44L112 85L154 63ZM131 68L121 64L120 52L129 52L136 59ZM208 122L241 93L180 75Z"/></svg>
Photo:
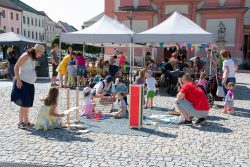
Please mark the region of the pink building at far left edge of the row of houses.
<svg viewBox="0 0 250 167"><path fill-rule="evenodd" d="M22 10L15 4L0 0L0 28L5 32L22 33Z"/></svg>

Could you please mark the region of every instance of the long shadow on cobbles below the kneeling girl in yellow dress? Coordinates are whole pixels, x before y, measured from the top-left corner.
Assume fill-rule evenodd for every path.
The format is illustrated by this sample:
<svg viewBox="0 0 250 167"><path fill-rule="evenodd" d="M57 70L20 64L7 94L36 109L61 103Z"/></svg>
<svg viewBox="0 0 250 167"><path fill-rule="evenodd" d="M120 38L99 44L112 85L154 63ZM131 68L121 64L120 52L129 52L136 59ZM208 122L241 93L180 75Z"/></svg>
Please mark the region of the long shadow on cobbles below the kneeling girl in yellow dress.
<svg viewBox="0 0 250 167"><path fill-rule="evenodd" d="M36 135L43 137L48 140L57 140L57 141L64 141L64 142L72 142L72 141L80 141L80 142L93 142L94 140L89 138L82 138L78 134L64 130L64 129L57 129L51 131L32 131L31 135Z"/></svg>

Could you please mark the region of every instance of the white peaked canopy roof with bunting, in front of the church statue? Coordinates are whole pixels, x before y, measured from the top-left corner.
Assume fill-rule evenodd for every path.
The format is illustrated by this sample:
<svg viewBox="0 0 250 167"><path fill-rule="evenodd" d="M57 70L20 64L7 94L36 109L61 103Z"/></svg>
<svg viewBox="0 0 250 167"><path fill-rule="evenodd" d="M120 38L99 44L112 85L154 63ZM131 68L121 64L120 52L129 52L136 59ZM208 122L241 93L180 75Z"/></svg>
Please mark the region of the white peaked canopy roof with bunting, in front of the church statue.
<svg viewBox="0 0 250 167"><path fill-rule="evenodd" d="M174 12L168 19L147 31L134 34L134 43L186 42L213 43L213 34L203 30L187 17Z"/></svg>

